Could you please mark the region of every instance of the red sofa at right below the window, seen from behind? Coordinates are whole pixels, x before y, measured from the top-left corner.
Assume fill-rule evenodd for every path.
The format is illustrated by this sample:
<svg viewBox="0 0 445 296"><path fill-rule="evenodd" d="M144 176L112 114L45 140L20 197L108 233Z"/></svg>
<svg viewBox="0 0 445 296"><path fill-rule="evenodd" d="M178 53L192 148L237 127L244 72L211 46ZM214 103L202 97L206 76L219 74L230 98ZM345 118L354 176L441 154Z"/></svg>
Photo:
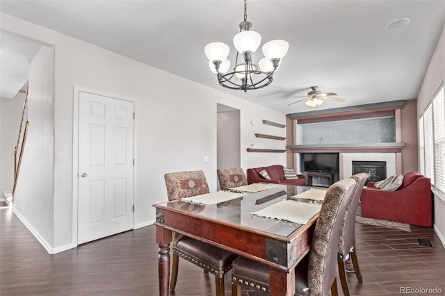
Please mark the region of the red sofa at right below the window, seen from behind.
<svg viewBox="0 0 445 296"><path fill-rule="evenodd" d="M423 174L409 172L396 191L385 191L369 182L362 190L362 216L424 227L432 225L431 181Z"/></svg>

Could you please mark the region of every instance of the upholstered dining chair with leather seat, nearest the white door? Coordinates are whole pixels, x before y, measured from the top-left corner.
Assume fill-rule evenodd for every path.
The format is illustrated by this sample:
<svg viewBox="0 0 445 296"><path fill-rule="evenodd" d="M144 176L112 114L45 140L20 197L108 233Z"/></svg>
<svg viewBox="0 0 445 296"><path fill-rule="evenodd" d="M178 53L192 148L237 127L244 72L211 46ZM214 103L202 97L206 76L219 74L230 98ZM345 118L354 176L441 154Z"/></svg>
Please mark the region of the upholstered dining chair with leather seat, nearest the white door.
<svg viewBox="0 0 445 296"><path fill-rule="evenodd" d="M164 175L164 179L169 201L209 193L209 185L202 171L168 173ZM204 272L214 274L216 295L223 296L224 275L232 268L232 262L237 256L179 233L174 232L172 236L173 260L170 291L175 290L179 257L181 257L203 268Z"/></svg>

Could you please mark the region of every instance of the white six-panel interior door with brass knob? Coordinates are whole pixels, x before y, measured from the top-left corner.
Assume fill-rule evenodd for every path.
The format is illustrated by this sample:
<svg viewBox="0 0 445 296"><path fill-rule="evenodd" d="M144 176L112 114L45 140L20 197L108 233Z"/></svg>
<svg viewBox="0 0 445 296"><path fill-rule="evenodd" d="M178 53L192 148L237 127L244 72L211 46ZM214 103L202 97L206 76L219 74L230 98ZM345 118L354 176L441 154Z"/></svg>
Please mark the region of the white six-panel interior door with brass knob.
<svg viewBox="0 0 445 296"><path fill-rule="evenodd" d="M79 92L78 243L133 228L131 101Z"/></svg>

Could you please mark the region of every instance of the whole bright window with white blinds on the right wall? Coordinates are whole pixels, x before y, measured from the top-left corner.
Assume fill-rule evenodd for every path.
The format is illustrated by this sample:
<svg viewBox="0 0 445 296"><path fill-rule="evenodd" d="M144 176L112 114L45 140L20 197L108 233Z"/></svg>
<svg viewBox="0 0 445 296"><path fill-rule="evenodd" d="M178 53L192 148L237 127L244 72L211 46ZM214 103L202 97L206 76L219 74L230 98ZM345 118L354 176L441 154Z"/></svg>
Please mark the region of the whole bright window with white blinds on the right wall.
<svg viewBox="0 0 445 296"><path fill-rule="evenodd" d="M419 119L420 172L445 193L445 88L442 86L432 104Z"/></svg>

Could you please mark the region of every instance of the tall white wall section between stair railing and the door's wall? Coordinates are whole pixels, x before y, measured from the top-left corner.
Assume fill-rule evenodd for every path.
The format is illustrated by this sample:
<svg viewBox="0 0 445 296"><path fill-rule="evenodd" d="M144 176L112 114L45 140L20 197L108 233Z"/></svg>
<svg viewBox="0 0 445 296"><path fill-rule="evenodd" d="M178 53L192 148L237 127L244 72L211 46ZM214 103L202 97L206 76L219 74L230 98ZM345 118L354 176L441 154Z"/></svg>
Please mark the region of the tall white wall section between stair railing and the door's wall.
<svg viewBox="0 0 445 296"><path fill-rule="evenodd" d="M54 49L50 47L42 47L29 65L27 111L29 129L14 211L50 250L54 240Z"/></svg>

